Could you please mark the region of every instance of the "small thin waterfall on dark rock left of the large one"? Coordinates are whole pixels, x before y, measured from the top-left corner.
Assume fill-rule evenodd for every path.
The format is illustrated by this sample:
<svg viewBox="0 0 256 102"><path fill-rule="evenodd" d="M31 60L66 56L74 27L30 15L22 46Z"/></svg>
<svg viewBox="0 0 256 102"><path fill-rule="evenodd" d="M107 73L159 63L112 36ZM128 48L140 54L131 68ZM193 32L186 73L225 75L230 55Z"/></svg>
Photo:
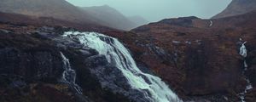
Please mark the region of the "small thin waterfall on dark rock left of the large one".
<svg viewBox="0 0 256 102"><path fill-rule="evenodd" d="M71 69L69 59L66 58L64 54L61 53L61 58L63 62L64 70L62 73L62 81L69 84L78 94L83 94L82 89L76 84L76 71Z"/></svg>

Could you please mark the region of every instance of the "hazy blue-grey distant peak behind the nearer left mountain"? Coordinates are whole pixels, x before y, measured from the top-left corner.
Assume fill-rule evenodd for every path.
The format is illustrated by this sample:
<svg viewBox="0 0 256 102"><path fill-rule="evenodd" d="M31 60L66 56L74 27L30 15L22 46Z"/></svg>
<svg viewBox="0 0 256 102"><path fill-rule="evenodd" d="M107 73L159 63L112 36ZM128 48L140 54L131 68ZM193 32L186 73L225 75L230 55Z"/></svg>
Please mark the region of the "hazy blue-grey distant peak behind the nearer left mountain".
<svg viewBox="0 0 256 102"><path fill-rule="evenodd" d="M105 21L108 26L121 30L131 30L137 27L135 23L128 20L123 14L108 5L83 7L84 12L96 17L98 20Z"/></svg>

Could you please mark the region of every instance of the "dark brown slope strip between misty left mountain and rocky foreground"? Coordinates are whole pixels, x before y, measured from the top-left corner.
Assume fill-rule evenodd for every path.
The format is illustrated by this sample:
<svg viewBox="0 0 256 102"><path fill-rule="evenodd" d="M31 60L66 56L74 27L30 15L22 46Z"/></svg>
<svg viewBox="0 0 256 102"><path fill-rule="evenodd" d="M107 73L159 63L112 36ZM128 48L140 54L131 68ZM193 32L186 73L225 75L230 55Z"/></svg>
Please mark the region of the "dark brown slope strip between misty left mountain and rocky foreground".
<svg viewBox="0 0 256 102"><path fill-rule="evenodd" d="M33 17L24 14L8 14L0 12L1 23L11 23L20 26L65 26L73 27L83 31L116 31L116 29L106 26L97 26L88 23L75 23L67 20L59 20L50 17ZM20 32L21 33L21 32Z"/></svg>

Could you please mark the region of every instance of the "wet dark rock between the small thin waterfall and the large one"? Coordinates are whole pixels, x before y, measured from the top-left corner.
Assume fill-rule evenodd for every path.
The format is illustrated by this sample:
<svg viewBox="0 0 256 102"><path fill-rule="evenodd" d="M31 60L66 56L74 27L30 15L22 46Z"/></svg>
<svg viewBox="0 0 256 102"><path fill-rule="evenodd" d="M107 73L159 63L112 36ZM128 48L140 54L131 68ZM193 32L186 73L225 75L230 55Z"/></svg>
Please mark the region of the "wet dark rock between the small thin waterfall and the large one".
<svg viewBox="0 0 256 102"><path fill-rule="evenodd" d="M86 62L89 63L88 67L90 68L91 74L101 83L102 89L109 91L106 95L108 94L111 101L119 101L120 98L126 98L123 101L148 101L142 92L131 88L122 72L115 66L109 64L105 56L92 56L86 59Z"/></svg>

